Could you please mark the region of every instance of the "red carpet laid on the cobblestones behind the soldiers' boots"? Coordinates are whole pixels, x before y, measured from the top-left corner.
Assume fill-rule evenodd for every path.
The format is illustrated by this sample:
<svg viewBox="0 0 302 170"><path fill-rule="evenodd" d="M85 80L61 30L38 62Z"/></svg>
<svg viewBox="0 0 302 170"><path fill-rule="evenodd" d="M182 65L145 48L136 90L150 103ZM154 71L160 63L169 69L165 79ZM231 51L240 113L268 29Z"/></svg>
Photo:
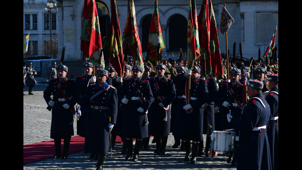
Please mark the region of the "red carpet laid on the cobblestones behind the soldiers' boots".
<svg viewBox="0 0 302 170"><path fill-rule="evenodd" d="M62 139L63 141L63 139ZM71 137L68 154L76 153L84 150L85 138L79 135ZM116 144L122 143L119 136L116 136ZM61 144L63 151L63 142ZM23 145L23 165L30 162L51 158L55 154L54 140Z"/></svg>

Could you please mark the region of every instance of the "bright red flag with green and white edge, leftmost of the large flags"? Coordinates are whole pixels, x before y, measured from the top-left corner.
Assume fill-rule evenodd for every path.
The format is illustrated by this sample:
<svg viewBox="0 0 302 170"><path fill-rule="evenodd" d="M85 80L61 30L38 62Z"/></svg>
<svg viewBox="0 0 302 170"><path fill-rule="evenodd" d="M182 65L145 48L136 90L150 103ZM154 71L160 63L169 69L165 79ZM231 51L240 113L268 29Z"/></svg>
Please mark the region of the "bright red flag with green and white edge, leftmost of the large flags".
<svg viewBox="0 0 302 170"><path fill-rule="evenodd" d="M89 58L92 53L102 48L99 17L96 3L93 0L85 0L82 16L81 50Z"/></svg>

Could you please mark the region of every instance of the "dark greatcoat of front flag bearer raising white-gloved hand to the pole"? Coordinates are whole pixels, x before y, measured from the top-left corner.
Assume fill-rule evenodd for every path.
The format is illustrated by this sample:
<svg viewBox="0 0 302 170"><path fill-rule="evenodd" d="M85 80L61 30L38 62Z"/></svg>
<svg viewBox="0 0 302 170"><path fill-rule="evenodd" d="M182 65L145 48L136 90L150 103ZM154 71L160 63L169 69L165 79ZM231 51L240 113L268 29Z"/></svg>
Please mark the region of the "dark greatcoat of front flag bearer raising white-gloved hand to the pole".
<svg viewBox="0 0 302 170"><path fill-rule="evenodd" d="M173 79L173 83L181 87L184 94L186 91L186 80L187 77L184 77L183 73ZM202 141L203 108L208 101L208 89L206 86L207 81L199 76L191 80L190 97L197 98L196 100L190 100L190 104L193 107L192 113L188 114L183 109L183 106L186 105L185 98L182 97L178 101L177 115L173 128L173 136L178 139Z"/></svg>

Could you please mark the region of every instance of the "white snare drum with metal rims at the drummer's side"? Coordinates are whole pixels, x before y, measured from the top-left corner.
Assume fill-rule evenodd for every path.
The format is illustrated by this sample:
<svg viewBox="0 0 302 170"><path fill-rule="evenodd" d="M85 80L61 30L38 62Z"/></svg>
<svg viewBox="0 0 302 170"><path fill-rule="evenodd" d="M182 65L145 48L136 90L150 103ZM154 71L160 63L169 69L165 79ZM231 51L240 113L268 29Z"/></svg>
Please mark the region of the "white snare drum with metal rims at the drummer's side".
<svg viewBox="0 0 302 170"><path fill-rule="evenodd" d="M213 131L215 141L214 151L227 152L233 151L235 145L235 132L232 131Z"/></svg>

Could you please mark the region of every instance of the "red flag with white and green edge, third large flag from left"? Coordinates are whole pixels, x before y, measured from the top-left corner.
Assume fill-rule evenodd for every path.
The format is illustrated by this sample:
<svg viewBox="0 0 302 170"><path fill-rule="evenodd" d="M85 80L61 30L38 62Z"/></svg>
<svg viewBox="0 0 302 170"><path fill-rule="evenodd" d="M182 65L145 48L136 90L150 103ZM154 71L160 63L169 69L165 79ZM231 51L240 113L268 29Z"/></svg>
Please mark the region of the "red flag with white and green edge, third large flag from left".
<svg viewBox="0 0 302 170"><path fill-rule="evenodd" d="M122 41L123 47L126 48L128 44L127 46L128 49L124 49L127 52L125 53L125 55L132 56L135 62L134 64L140 65L141 67L144 68L143 55L141 53L141 41L137 31L135 8L134 8L133 0L130 0L130 10L126 20L122 38L123 38Z"/></svg>

